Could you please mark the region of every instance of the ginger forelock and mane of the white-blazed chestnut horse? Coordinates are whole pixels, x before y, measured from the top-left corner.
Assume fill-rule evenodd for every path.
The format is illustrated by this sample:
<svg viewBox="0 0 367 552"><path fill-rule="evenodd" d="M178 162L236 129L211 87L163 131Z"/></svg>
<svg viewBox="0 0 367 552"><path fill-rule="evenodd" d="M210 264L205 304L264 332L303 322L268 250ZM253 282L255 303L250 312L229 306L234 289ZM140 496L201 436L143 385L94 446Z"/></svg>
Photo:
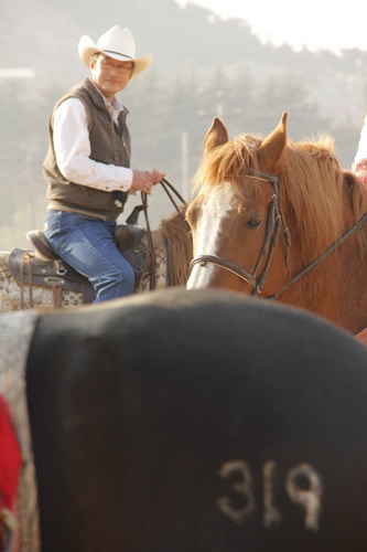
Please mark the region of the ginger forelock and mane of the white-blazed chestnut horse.
<svg viewBox="0 0 367 552"><path fill-rule="evenodd" d="M205 197L213 185L230 181L245 200L256 193L263 181L251 179L251 187L246 187L245 173L259 170L257 150L262 140L240 135L206 152L195 174L195 192ZM288 139L278 176L284 217L302 243L304 259L320 255L367 212L367 187L342 171L328 135L301 142ZM366 232L359 232L358 238L366 251Z"/></svg>

